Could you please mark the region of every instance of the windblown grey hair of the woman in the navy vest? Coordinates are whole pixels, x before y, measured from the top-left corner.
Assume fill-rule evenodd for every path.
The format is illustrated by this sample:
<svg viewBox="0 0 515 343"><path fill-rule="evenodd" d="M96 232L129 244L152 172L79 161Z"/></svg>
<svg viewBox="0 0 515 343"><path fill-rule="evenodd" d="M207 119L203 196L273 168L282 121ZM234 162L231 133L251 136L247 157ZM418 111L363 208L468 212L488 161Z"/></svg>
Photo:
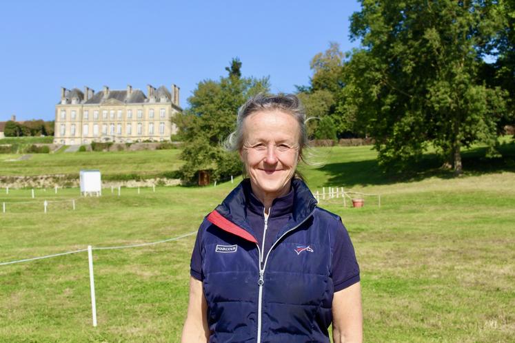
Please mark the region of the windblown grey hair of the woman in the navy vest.
<svg viewBox="0 0 515 343"><path fill-rule="evenodd" d="M236 130L225 139L223 147L232 152L239 152L243 148L244 143L243 121L245 118L255 112L271 112L275 110L291 114L297 123L299 123L299 157L306 162L303 154L304 148L309 147L305 125L306 116L301 101L294 94L271 95L259 93L250 98L239 108L236 118Z"/></svg>

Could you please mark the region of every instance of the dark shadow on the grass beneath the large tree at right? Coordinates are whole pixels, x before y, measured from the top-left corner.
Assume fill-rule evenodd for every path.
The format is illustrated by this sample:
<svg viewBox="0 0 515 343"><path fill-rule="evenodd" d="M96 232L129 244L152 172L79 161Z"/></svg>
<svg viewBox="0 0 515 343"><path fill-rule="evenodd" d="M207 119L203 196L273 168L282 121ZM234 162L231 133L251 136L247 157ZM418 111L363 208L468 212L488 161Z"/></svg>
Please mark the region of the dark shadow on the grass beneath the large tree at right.
<svg viewBox="0 0 515 343"><path fill-rule="evenodd" d="M486 148L476 147L462 153L463 176L515 172L515 144L507 143L498 148L502 156L486 158ZM423 158L409 170L393 173L384 171L376 159L356 162L328 163L320 168L329 175L325 185L389 185L399 182L414 182L425 178L454 178L452 170L442 169L442 160L436 154L425 154Z"/></svg>

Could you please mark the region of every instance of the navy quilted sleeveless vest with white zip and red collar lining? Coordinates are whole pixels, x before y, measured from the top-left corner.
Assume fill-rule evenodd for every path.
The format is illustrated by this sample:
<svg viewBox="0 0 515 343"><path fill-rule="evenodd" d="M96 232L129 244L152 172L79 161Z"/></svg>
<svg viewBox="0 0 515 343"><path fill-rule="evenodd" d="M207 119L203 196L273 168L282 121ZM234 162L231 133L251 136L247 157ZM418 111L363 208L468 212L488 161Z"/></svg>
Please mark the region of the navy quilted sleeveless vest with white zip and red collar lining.
<svg viewBox="0 0 515 343"><path fill-rule="evenodd" d="M242 185L201 225L209 342L330 342L332 238L340 219L316 207L301 180L292 185L292 219L263 257L263 269L245 222Z"/></svg>

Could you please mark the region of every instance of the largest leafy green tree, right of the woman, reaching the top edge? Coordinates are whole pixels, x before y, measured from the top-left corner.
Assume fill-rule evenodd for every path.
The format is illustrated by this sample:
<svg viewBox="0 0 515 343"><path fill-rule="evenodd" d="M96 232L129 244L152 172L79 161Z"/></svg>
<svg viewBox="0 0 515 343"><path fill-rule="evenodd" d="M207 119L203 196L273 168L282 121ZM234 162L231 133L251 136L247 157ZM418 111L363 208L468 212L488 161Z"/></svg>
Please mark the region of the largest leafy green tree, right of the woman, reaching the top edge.
<svg viewBox="0 0 515 343"><path fill-rule="evenodd" d="M461 173L461 148L496 144L505 94L478 77L502 21L494 1L361 0L343 110L367 118L380 162L406 164L433 143ZM398 165L398 164L397 164Z"/></svg>

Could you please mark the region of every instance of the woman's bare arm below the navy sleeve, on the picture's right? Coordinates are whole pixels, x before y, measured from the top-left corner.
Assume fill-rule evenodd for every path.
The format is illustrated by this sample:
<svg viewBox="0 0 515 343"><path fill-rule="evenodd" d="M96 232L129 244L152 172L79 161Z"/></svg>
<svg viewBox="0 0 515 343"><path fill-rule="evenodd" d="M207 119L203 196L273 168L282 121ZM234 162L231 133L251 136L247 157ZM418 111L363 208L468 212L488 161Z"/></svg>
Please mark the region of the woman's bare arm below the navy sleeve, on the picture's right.
<svg viewBox="0 0 515 343"><path fill-rule="evenodd" d="M363 313L359 282L334 293L332 339L334 343L363 342Z"/></svg>

